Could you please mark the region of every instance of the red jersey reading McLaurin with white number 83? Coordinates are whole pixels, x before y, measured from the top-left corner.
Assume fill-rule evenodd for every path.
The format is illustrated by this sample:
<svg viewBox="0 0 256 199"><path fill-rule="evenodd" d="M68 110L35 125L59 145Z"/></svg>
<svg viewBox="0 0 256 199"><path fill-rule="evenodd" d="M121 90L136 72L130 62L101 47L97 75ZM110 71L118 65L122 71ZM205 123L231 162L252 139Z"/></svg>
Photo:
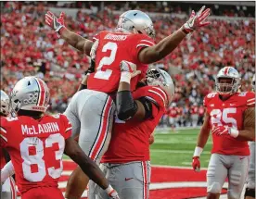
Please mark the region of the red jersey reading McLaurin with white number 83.
<svg viewBox="0 0 256 199"><path fill-rule="evenodd" d="M71 124L64 115L38 120L1 118L0 142L11 156L20 193L42 186L58 187L65 140Z"/></svg>

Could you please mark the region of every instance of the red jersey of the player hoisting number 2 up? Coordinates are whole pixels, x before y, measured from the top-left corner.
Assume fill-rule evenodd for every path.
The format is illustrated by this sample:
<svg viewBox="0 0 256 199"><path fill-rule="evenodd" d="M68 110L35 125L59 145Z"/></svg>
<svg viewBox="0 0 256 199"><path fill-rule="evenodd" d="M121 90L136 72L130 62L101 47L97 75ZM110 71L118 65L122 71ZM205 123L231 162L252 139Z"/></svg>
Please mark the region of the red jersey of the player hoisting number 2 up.
<svg viewBox="0 0 256 199"><path fill-rule="evenodd" d="M134 91L133 96L134 99L147 96L157 104L152 106L153 118L143 121L135 119L122 121L116 118L109 149L101 159L103 163L126 163L150 159L148 139L164 114L167 95L160 87L145 86Z"/></svg>

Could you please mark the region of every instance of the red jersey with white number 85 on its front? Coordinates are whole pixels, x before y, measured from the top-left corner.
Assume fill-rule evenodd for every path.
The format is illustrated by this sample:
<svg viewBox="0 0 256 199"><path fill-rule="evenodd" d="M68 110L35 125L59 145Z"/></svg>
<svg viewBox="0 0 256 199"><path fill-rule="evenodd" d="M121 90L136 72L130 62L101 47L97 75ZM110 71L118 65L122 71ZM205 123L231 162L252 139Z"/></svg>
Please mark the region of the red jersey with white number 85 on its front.
<svg viewBox="0 0 256 199"><path fill-rule="evenodd" d="M209 93L204 98L204 106L211 116L213 126L229 126L243 130L244 111L255 106L255 93L235 93L227 100L221 100L218 93ZM231 136L212 135L211 153L223 155L250 155L248 142L238 141Z"/></svg>

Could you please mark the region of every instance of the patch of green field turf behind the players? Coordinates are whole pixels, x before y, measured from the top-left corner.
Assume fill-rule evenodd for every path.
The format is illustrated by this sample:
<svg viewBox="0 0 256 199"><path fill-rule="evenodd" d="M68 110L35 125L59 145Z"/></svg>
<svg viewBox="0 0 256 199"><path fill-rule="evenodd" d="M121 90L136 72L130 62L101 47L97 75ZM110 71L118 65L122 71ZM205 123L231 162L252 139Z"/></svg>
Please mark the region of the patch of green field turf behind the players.
<svg viewBox="0 0 256 199"><path fill-rule="evenodd" d="M198 132L199 129L156 131L155 143L150 147L151 164L190 167ZM200 156L202 168L207 168L210 155L211 136Z"/></svg>

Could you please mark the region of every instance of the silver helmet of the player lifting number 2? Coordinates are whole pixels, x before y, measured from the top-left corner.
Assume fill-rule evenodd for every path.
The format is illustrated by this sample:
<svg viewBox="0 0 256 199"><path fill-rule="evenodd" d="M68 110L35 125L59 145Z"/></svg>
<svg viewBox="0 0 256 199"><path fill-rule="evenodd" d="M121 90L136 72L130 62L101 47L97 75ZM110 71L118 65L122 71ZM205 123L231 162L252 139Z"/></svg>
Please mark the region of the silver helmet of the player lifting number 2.
<svg viewBox="0 0 256 199"><path fill-rule="evenodd" d="M147 80L147 85L149 86L160 86L160 88L167 94L168 99L165 106L170 106L173 101L175 87L174 87L173 79L168 74L168 72L160 68L155 68L155 67L148 68L147 74L146 74L146 80Z"/></svg>

